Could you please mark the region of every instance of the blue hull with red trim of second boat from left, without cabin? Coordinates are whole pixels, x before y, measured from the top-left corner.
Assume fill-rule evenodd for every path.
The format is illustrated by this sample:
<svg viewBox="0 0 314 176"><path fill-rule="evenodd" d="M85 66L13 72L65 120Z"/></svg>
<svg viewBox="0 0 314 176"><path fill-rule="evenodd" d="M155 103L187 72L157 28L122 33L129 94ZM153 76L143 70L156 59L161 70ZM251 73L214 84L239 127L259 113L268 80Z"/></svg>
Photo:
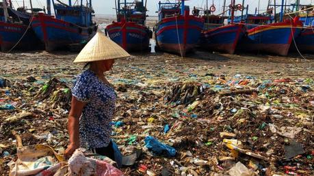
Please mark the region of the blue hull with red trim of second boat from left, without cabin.
<svg viewBox="0 0 314 176"><path fill-rule="evenodd" d="M47 51L64 48L71 44L86 44L97 31L97 25L80 27L42 13L34 17L31 27L44 43Z"/></svg>

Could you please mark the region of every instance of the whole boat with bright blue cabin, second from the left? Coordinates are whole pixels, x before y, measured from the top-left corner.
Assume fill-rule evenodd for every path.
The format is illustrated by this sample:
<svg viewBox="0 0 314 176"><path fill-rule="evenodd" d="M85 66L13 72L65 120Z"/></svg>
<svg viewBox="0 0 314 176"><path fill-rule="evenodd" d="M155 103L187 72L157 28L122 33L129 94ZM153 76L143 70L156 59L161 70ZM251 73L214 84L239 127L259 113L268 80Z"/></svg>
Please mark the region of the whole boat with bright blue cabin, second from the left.
<svg viewBox="0 0 314 176"><path fill-rule="evenodd" d="M58 3L55 3L57 1ZM48 14L38 13L31 22L31 27L44 43L47 51L68 46L83 46L96 33L98 25L92 21L94 10L92 1L86 5L68 0L68 4L60 0L52 0L55 16L51 16L51 0L47 0Z"/></svg>

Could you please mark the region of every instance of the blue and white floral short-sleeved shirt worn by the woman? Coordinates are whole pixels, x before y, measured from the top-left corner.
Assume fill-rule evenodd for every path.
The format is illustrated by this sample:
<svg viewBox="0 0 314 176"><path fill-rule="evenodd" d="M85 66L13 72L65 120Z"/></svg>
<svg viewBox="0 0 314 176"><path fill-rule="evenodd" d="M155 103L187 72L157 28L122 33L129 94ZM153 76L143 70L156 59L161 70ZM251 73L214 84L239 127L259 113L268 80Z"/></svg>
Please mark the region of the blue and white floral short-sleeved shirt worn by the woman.
<svg viewBox="0 0 314 176"><path fill-rule="evenodd" d="M116 105L114 88L103 83L91 70L86 70L77 76L72 95L86 102L79 119L80 146L86 149L107 147Z"/></svg>

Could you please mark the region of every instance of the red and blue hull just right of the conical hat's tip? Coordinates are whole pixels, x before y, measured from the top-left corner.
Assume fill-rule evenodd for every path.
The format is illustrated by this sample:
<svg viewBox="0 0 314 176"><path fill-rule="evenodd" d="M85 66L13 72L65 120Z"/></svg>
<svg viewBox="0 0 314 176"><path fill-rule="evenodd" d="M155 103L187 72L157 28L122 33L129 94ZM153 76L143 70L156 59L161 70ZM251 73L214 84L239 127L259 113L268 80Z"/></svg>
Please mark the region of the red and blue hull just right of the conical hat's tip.
<svg viewBox="0 0 314 176"><path fill-rule="evenodd" d="M106 30L111 40L129 52L144 51L149 48L152 31L144 25L122 20L108 25Z"/></svg>

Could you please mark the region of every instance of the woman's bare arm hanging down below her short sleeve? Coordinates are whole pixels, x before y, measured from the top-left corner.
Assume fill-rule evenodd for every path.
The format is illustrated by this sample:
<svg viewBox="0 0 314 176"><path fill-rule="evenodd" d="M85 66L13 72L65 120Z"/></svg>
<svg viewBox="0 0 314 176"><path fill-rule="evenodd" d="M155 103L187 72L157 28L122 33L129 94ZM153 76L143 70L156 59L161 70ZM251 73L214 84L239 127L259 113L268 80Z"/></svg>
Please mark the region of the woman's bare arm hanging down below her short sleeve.
<svg viewBox="0 0 314 176"><path fill-rule="evenodd" d="M79 148L79 117L81 117L83 107L86 103L80 102L72 97L71 110L68 115L68 134L70 136L70 144L65 151L66 158L69 158L75 149Z"/></svg>

